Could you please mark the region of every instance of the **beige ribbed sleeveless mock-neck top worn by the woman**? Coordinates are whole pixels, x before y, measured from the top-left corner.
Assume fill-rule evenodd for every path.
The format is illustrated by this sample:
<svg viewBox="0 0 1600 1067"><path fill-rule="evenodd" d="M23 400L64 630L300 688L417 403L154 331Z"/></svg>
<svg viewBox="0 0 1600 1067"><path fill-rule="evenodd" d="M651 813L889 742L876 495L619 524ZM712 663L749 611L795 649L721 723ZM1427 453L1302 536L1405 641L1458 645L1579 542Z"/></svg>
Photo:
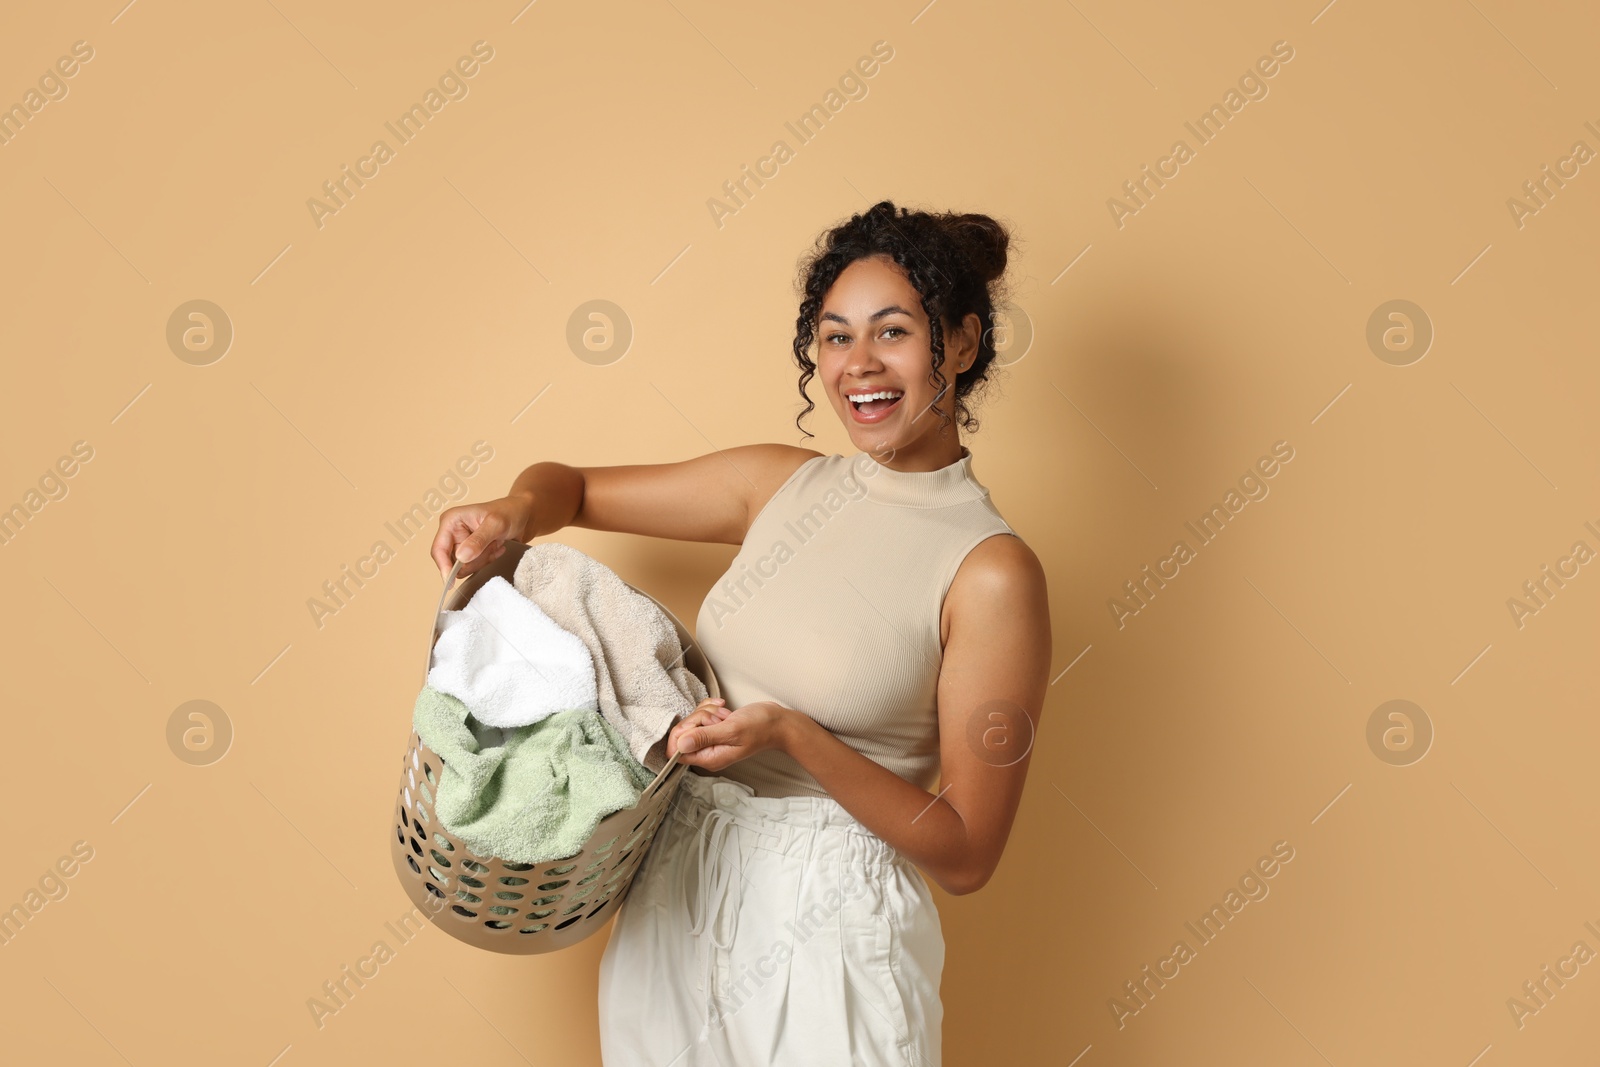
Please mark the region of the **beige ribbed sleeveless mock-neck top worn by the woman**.
<svg viewBox="0 0 1600 1067"><path fill-rule="evenodd" d="M744 536L694 624L728 707L776 701L923 789L939 779L939 613L978 542L1016 536L973 453L904 472L867 453L800 464ZM826 797L792 757L718 771L758 797Z"/></svg>

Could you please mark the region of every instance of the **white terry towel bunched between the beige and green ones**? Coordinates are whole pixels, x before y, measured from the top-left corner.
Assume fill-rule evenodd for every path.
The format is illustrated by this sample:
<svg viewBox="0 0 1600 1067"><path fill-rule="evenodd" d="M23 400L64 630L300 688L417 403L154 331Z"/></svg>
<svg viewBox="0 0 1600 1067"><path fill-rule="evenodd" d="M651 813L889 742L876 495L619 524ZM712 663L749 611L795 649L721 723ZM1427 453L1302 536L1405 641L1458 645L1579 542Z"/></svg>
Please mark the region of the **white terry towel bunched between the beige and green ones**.
<svg viewBox="0 0 1600 1067"><path fill-rule="evenodd" d="M485 726L530 726L555 712L598 710L587 645L504 577L445 611L427 683Z"/></svg>

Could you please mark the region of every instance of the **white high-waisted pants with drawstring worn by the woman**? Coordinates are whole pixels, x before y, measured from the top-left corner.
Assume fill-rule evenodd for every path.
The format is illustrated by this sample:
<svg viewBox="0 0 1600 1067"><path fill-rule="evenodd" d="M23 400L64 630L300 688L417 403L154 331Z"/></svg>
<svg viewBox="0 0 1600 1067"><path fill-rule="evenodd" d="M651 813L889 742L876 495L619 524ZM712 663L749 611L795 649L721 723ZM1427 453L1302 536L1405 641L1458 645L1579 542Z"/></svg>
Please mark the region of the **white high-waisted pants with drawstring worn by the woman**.
<svg viewBox="0 0 1600 1067"><path fill-rule="evenodd" d="M685 774L600 958L605 1067L939 1067L922 872L829 797Z"/></svg>

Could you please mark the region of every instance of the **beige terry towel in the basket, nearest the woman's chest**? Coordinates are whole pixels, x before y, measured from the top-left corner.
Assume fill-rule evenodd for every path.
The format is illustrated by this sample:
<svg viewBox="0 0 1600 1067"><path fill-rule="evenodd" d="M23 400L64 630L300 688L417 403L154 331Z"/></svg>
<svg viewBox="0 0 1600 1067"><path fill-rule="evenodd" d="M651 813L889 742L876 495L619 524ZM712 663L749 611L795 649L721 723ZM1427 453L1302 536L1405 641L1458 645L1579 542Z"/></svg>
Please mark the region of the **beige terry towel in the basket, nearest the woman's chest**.
<svg viewBox="0 0 1600 1067"><path fill-rule="evenodd" d="M558 541L528 545L512 584L589 648L600 713L634 758L659 773L667 731L707 696L683 665L672 619L616 571Z"/></svg>

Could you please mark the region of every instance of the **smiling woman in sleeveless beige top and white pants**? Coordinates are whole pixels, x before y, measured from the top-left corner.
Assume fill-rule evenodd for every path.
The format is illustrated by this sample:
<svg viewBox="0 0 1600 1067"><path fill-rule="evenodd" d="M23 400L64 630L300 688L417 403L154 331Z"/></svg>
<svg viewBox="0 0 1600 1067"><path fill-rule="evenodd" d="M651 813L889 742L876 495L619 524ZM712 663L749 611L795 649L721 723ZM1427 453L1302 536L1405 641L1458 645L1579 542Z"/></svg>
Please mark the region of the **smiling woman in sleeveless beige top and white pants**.
<svg viewBox="0 0 1600 1067"><path fill-rule="evenodd" d="M669 733L690 773L600 963L606 1067L941 1061L923 875L989 881L1050 672L1043 568L952 426L995 360L1006 245L987 216L890 202L819 238L797 424L819 376L856 456L541 462L440 517L445 573L568 525L741 545L696 622L723 699Z"/></svg>

